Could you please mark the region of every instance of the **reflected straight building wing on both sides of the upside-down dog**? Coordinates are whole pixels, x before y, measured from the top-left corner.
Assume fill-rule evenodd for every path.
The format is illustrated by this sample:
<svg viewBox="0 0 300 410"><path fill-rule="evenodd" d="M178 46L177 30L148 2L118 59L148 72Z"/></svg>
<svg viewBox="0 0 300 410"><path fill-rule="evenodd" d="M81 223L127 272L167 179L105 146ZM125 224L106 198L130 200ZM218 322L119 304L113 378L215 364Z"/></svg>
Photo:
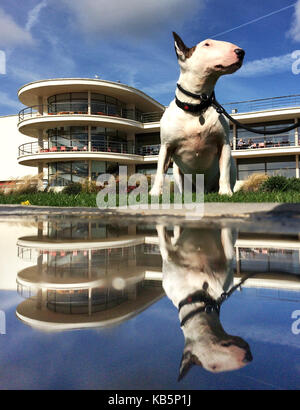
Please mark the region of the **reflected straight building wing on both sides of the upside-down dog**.
<svg viewBox="0 0 300 410"><path fill-rule="evenodd" d="M137 232L147 235L143 245L145 260L160 253L156 231L149 226L139 226ZM253 272L255 276L245 287L286 287L299 289L300 240L297 235L275 235L239 232L235 242L235 279Z"/></svg>

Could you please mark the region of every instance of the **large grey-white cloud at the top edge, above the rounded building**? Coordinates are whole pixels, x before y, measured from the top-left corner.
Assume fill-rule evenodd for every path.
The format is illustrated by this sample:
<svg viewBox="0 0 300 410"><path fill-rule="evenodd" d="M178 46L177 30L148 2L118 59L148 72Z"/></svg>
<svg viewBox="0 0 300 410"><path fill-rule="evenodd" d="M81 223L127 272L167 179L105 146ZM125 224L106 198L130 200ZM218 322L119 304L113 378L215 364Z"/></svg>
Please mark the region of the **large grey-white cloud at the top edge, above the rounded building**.
<svg viewBox="0 0 300 410"><path fill-rule="evenodd" d="M157 36L166 23L180 24L205 0L63 0L73 13L76 27L86 34L123 35L131 38Z"/></svg>

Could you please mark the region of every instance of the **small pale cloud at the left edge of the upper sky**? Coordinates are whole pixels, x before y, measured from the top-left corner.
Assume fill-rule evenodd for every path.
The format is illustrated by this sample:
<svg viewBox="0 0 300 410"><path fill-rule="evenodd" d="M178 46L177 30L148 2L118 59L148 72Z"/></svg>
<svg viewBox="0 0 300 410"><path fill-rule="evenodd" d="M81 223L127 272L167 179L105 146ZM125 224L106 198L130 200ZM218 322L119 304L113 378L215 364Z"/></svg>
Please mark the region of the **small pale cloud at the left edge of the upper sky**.
<svg viewBox="0 0 300 410"><path fill-rule="evenodd" d="M13 18L0 8L0 47L33 44L31 34L19 26Z"/></svg>

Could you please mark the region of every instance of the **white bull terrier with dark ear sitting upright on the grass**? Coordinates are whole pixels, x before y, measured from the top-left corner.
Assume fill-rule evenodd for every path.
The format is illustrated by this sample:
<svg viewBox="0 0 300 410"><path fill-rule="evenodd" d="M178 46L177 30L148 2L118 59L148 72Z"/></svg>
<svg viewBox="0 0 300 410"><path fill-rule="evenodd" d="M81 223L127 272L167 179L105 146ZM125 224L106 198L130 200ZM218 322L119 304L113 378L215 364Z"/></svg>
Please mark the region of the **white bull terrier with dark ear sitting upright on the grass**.
<svg viewBox="0 0 300 410"><path fill-rule="evenodd" d="M218 78L237 71L244 50L225 41L204 40L188 48L173 33L180 76L175 99L160 122L161 147L152 196L161 193L173 159L174 180L182 192L182 174L204 174L206 192L232 195L236 168L231 157L229 124L211 106Z"/></svg>

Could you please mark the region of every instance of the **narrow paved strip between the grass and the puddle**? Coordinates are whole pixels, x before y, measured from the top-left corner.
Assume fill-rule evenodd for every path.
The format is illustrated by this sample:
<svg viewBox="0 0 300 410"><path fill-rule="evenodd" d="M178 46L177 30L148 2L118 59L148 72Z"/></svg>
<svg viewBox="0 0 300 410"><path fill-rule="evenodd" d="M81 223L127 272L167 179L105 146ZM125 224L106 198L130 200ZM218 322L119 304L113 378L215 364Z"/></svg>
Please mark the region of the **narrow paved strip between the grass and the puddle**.
<svg viewBox="0 0 300 410"><path fill-rule="evenodd" d="M59 208L25 205L0 205L0 221L56 218L101 218L108 223L189 226L228 226L248 232L293 234L300 239L300 203L205 203L198 212L184 209Z"/></svg>

